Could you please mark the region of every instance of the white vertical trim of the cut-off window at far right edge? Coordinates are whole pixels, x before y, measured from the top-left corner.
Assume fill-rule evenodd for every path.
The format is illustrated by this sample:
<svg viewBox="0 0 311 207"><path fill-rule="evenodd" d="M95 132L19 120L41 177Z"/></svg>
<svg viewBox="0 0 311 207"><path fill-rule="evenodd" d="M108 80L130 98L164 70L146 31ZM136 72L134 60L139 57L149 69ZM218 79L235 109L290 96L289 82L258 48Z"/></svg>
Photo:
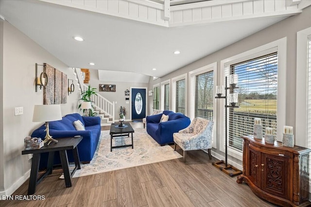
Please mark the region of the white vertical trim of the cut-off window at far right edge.
<svg viewBox="0 0 311 207"><path fill-rule="evenodd" d="M311 27L297 32L295 145L307 147L308 36Z"/></svg>

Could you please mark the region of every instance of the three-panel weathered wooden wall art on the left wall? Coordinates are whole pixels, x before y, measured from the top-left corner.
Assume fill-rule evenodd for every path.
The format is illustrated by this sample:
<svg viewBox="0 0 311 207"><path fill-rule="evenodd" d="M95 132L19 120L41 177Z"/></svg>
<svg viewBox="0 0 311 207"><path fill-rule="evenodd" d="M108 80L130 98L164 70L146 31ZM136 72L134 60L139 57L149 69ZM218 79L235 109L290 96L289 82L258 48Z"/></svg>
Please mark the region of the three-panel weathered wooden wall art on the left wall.
<svg viewBox="0 0 311 207"><path fill-rule="evenodd" d="M67 104L67 75L49 64L43 66L48 75L48 85L43 88L43 104Z"/></svg>

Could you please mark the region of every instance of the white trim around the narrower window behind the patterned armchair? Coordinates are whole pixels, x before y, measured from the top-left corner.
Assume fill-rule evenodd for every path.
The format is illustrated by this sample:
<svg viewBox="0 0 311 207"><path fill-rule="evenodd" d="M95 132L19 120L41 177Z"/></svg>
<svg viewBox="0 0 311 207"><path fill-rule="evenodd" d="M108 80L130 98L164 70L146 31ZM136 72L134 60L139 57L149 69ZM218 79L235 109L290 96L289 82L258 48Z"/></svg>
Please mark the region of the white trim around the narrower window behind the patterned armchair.
<svg viewBox="0 0 311 207"><path fill-rule="evenodd" d="M188 115L190 117L190 120L194 119L194 104L191 103L195 99L195 93L194 93L194 82L191 81L191 78L195 77L198 74L202 74L205 72L213 71L213 77L214 77L214 94L216 94L216 83L217 83L217 62L211 63L207 66L201 67L199 69L195 69L189 72L189 77L188 77ZM192 92L191 92L192 91ZM193 107L192 107L193 106ZM217 115L217 102L216 99L213 99L213 144L212 147L217 149L217 138L216 138L216 133L217 133L217 121L216 121L216 115Z"/></svg>

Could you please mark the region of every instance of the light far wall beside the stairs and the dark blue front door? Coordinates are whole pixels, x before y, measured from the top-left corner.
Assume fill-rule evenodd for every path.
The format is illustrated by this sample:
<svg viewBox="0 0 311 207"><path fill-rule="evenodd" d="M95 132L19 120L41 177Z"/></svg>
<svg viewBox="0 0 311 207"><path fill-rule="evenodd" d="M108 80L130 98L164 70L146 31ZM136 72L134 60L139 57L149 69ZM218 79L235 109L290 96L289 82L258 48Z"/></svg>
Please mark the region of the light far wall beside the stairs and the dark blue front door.
<svg viewBox="0 0 311 207"><path fill-rule="evenodd" d="M98 77L98 70L96 69L90 69L90 80L88 82L88 84L86 85L90 85L92 87L95 87L97 92L104 96L104 98L108 99L110 102L117 102L117 104L115 104L115 119L119 120L119 111L120 111L120 107L124 106L126 108L127 111L127 115L125 117L126 120L131 120L130 117L130 108L131 108L131 103L130 100L129 101L125 101L125 98L130 98L130 96L125 96L124 95L124 91L126 89L131 91L131 87L148 87L147 83L133 83L131 82L131 79L128 79L128 82L115 82L115 81L100 81L99 77ZM99 85L116 85L116 92L103 92L103 91L99 91ZM148 91L148 90L147 90ZM131 94L130 94L131 95ZM147 97L149 98L149 97ZM126 102L128 102L128 104L126 104ZM149 113L146 111L146 115L148 115Z"/></svg>

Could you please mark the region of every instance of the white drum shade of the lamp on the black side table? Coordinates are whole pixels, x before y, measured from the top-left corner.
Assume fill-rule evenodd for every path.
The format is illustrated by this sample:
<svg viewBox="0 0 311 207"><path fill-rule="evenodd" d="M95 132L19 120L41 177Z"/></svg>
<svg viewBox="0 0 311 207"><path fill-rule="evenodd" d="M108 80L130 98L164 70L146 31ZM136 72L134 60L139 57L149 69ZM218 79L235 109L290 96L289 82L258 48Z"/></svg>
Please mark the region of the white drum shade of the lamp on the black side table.
<svg viewBox="0 0 311 207"><path fill-rule="evenodd" d="M33 122L62 120L60 104L35 105Z"/></svg>

